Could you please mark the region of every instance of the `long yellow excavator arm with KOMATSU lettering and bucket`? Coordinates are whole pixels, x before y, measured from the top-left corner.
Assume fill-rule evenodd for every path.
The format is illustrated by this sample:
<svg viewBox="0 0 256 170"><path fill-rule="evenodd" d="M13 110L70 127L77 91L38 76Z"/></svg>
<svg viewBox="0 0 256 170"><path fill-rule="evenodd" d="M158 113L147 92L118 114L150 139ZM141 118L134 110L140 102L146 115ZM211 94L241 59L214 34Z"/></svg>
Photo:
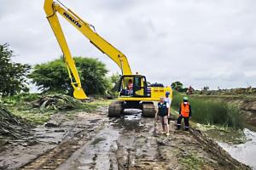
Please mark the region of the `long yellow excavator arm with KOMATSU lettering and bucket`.
<svg viewBox="0 0 256 170"><path fill-rule="evenodd" d="M56 12L58 12L64 19L66 19L72 26L77 28L90 42L96 46L103 54L107 54L113 61L119 65L123 75L131 75L131 68L128 63L125 54L122 54L117 48L114 48L109 42L99 36L96 31L91 29L91 25L82 20L71 9L65 7L61 3L56 3L53 0L44 1L44 11L49 20L49 24L55 33L55 37L61 46L62 53L64 54L65 61L67 63L67 70L71 77L72 86L74 88L74 97L78 99L86 99L83 88L79 78L78 71L76 69L73 57L67 46L66 39L61 29L61 24L58 20ZM72 73L72 74L71 74ZM75 82L73 82L73 78Z"/></svg>

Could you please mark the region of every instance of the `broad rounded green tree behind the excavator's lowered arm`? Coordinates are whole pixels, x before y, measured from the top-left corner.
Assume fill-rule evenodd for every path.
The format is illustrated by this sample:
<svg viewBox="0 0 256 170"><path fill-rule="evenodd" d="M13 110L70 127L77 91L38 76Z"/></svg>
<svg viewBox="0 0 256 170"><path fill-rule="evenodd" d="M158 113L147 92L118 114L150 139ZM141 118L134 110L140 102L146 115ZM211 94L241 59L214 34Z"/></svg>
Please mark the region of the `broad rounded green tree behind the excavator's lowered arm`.
<svg viewBox="0 0 256 170"><path fill-rule="evenodd" d="M105 94L109 86L105 77L106 66L98 59L74 57L82 87L86 94ZM63 59L35 65L29 76L43 92L61 92L72 94L73 88Z"/></svg>

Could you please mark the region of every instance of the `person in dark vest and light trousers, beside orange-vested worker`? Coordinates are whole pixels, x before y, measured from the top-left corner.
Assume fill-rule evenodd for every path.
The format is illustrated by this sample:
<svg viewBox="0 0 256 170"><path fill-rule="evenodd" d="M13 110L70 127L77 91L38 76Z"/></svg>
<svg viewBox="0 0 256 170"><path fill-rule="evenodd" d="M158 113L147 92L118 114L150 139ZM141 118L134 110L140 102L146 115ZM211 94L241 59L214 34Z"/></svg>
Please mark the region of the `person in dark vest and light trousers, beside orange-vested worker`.
<svg viewBox="0 0 256 170"><path fill-rule="evenodd" d="M170 116L170 105L165 101L164 97L160 97L160 102L157 105L158 111L155 114L155 119L157 116L160 118L160 123L162 127L161 134L165 134L167 136L170 135L169 133L169 124L168 124L168 116Z"/></svg>

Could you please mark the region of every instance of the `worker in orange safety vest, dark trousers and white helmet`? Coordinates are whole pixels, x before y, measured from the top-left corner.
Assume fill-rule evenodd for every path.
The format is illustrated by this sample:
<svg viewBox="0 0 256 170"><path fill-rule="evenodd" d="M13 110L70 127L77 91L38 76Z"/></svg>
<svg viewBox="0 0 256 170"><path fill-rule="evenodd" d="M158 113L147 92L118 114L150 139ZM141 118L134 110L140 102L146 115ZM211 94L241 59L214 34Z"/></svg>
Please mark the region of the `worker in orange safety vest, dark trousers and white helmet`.
<svg viewBox="0 0 256 170"><path fill-rule="evenodd" d="M183 102L179 108L179 116L177 117L177 130L181 127L182 119L184 119L185 130L189 130L189 117L192 116L191 105L189 104L189 99L187 97L183 97Z"/></svg>

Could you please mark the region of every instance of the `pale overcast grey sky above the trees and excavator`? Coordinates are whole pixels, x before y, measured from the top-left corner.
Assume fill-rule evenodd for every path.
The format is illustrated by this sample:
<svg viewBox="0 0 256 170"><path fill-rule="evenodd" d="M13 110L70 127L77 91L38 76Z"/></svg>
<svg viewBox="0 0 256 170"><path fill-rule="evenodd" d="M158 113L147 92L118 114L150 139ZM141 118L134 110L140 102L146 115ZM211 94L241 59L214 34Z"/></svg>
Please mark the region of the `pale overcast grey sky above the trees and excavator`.
<svg viewBox="0 0 256 170"><path fill-rule="evenodd" d="M256 87L255 0L61 2L95 26L149 82ZM61 55L43 7L44 0L0 0L0 43L10 44L15 61L35 65ZM66 20L61 26L74 56L98 58L110 72L119 71Z"/></svg>

